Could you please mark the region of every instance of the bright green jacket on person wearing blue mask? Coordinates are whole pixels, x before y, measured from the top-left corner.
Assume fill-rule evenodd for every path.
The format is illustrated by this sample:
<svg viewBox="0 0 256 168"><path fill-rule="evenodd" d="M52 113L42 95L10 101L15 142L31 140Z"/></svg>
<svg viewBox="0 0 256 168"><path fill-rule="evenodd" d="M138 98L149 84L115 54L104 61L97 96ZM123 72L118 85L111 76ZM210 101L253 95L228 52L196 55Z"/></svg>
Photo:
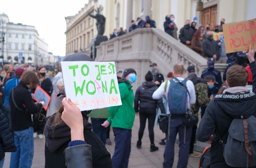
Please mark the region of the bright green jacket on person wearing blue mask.
<svg viewBox="0 0 256 168"><path fill-rule="evenodd" d="M114 128L131 130L135 118L135 110L133 108L134 95L130 82L127 82L118 84L122 105L109 107L109 117L107 120Z"/></svg>

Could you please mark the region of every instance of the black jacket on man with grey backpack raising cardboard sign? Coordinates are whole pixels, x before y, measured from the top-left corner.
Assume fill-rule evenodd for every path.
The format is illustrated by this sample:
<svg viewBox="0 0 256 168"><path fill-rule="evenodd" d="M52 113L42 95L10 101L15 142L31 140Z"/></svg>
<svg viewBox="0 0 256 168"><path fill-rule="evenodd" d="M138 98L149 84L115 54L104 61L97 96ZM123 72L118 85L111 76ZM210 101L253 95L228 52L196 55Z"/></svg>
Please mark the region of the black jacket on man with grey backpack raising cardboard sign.
<svg viewBox="0 0 256 168"><path fill-rule="evenodd" d="M256 92L256 62L250 64L253 76L253 92ZM227 142L228 129L234 118L248 118L251 115L256 117L255 96L240 98L239 95L233 95L237 98L220 98L216 95L215 98L208 104L205 114L197 129L197 138L202 142L209 140L213 134L211 147L211 168L230 168L224 160L223 148L219 143L222 138L223 143Z"/></svg>

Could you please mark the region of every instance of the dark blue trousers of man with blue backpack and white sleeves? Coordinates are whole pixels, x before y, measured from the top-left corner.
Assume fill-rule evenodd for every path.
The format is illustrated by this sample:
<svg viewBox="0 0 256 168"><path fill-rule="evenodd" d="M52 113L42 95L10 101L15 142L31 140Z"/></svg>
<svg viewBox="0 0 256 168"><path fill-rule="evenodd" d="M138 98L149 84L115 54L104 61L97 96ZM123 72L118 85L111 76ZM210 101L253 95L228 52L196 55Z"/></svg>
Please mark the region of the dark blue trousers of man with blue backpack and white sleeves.
<svg viewBox="0 0 256 168"><path fill-rule="evenodd" d="M174 145L176 136L179 133L179 159L177 168L186 168L189 158L189 144L191 140L192 127L186 127L183 124L183 119L171 119L170 122L170 135L167 139L165 150L163 154L163 168L172 168L174 161ZM184 138L185 137L185 138ZM184 142L185 140L185 142Z"/></svg>

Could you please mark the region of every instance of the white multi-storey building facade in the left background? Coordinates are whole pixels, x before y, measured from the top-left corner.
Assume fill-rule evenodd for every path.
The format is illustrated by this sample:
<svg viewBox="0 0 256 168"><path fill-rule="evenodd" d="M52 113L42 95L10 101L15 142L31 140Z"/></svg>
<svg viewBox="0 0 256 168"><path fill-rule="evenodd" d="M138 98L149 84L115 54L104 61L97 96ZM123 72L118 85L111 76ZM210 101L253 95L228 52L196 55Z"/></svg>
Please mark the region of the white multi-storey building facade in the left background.
<svg viewBox="0 0 256 168"><path fill-rule="evenodd" d="M35 26L9 22L6 14L0 17L4 23L5 42L0 47L4 49L5 63L49 64L48 44L40 38Z"/></svg>

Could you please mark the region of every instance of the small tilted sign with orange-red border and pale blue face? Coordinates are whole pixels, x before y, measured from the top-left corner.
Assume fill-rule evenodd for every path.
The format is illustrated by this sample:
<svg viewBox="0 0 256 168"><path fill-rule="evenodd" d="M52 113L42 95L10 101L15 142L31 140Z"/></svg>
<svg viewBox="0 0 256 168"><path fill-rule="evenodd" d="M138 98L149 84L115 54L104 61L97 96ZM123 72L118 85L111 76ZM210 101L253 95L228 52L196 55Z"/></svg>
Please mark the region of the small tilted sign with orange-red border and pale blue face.
<svg viewBox="0 0 256 168"><path fill-rule="evenodd" d="M44 91L44 89L42 89L40 86L37 86L35 88L35 92L34 92L34 99L35 101L39 102L39 101L44 101L44 110L47 110L51 97Z"/></svg>

